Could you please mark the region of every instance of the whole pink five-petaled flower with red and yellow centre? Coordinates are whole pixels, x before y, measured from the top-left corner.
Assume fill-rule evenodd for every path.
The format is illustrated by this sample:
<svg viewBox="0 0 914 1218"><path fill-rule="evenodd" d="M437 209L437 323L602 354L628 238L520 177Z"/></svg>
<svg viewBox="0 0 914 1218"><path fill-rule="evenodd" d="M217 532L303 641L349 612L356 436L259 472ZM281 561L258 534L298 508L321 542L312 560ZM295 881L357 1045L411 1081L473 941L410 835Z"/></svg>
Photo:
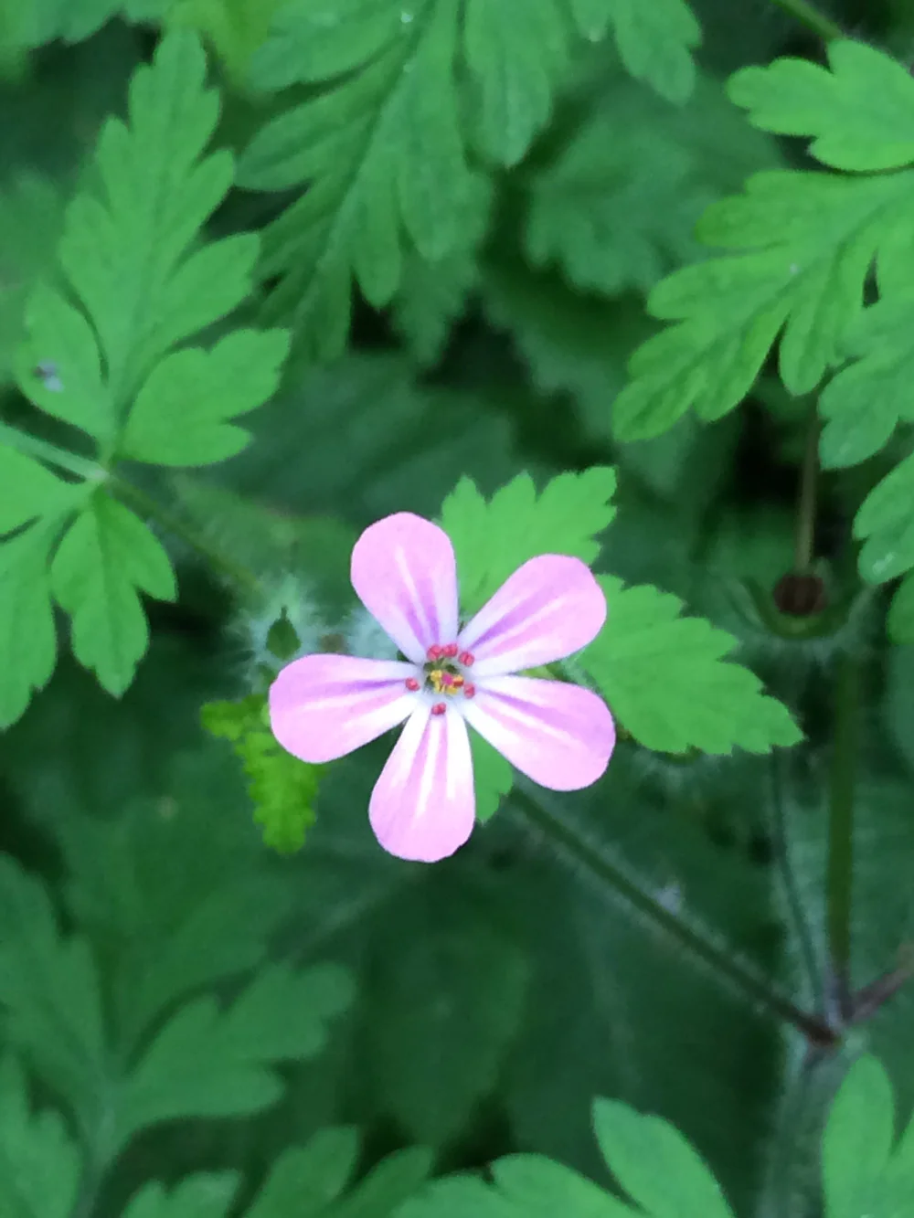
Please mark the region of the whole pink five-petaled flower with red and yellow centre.
<svg viewBox="0 0 914 1218"><path fill-rule="evenodd" d="M352 586L406 657L305 655L269 691L279 743L331 761L406 721L369 804L390 854L435 862L475 821L467 723L534 782L589 787L615 743L604 703L564 681L514 676L586 646L606 598L576 558L542 554L505 581L461 628L457 565L438 525L402 512L370 525L352 551Z"/></svg>

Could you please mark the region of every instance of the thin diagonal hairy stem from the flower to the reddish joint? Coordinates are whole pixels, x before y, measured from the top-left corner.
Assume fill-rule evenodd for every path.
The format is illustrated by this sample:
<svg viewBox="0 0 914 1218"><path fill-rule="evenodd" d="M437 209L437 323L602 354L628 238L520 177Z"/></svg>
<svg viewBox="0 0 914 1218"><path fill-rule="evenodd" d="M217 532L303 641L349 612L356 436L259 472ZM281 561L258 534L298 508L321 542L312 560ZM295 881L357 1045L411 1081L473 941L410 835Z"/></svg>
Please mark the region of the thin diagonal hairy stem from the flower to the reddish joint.
<svg viewBox="0 0 914 1218"><path fill-rule="evenodd" d="M662 905L645 888L640 887L620 867L613 864L572 826L553 816L548 809L533 799L520 787L512 794L515 805L526 818L597 876L613 893L622 898L636 914L648 918L658 929L680 943L692 956L707 965L721 980L728 982L751 1002L765 1010L782 1023L796 1028L810 1045L830 1047L838 1043L838 1035L824 1019L801 1010L787 994L771 980L757 973L751 965L718 946L693 926L689 926Z"/></svg>

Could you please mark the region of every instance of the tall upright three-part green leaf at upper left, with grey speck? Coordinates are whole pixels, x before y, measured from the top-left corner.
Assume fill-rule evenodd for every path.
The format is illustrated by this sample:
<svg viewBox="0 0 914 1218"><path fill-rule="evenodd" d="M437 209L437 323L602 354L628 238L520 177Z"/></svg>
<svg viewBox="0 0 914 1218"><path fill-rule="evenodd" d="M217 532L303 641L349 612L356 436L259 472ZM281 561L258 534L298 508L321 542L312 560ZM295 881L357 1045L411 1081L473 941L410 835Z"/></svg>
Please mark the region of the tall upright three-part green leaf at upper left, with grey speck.
<svg viewBox="0 0 914 1218"><path fill-rule="evenodd" d="M23 391L93 435L106 460L123 451L119 432L136 393L129 454L202 464L238 451L227 420L275 386L278 335L241 331L212 352L180 351L156 368L252 287L256 235L199 245L233 179L228 151L205 155L218 117L200 41L186 29L168 33L152 65L134 73L128 122L108 118L102 128L89 185L67 209L60 262L79 308L39 286L27 311L17 356Z"/></svg>

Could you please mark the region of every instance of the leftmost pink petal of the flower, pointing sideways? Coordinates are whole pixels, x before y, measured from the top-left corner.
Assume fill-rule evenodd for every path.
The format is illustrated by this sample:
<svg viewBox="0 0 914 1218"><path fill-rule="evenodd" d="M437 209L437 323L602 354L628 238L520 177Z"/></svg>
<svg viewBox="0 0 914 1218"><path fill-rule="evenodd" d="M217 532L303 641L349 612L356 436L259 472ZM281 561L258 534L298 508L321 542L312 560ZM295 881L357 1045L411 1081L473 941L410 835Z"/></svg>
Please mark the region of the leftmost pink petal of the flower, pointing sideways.
<svg viewBox="0 0 914 1218"><path fill-rule="evenodd" d="M406 688L412 664L356 655L305 655L286 664L269 688L269 723L302 761L333 761L375 739L409 715L420 694Z"/></svg>

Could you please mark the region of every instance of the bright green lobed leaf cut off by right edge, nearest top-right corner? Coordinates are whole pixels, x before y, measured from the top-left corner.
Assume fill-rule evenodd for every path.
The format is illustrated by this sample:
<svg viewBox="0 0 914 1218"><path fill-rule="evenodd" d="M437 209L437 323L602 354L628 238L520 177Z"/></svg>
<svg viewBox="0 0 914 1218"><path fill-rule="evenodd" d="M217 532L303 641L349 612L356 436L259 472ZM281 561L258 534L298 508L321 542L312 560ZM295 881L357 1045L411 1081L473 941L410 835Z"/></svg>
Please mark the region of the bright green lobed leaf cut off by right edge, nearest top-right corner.
<svg viewBox="0 0 914 1218"><path fill-rule="evenodd" d="M865 43L827 44L829 67L775 60L728 85L749 122L779 135L814 136L809 152L835 169L898 169L914 161L914 80Z"/></svg>

